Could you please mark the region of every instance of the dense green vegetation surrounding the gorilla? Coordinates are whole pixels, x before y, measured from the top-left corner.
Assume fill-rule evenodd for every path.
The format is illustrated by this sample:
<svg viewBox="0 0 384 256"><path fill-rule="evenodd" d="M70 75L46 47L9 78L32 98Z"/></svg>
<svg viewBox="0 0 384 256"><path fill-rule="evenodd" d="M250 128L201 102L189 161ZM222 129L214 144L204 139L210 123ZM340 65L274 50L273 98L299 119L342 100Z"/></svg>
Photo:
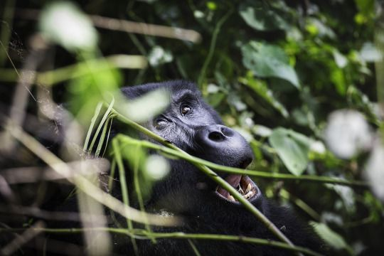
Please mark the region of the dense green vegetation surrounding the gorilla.
<svg viewBox="0 0 384 256"><path fill-rule="evenodd" d="M37 231L31 231L25 242L12 245L16 237L9 228L24 228L25 234L40 227L46 216L40 208L52 210L47 202L64 200L71 188L58 192L50 181L56 178L40 172L35 178L16 177L16 168L31 172L58 163L18 127L62 161L96 154L122 171L121 161L132 164L141 157L139 191L145 198L162 174L146 173L144 166L166 169L166 163L146 159L145 151L137 150L145 145L138 148L127 138L107 143L108 134L119 112L128 117L120 117L122 126L132 132L129 120L143 122L166 107L164 95L123 102L115 91L175 79L198 83L225 124L249 140L255 153L249 169L267 173L255 173L263 193L296 208L334 254L384 251L381 1L49 3L6 0L1 6L2 253L22 252L27 240L38 240ZM81 178L71 182L85 191L80 201L86 201Z"/></svg>

